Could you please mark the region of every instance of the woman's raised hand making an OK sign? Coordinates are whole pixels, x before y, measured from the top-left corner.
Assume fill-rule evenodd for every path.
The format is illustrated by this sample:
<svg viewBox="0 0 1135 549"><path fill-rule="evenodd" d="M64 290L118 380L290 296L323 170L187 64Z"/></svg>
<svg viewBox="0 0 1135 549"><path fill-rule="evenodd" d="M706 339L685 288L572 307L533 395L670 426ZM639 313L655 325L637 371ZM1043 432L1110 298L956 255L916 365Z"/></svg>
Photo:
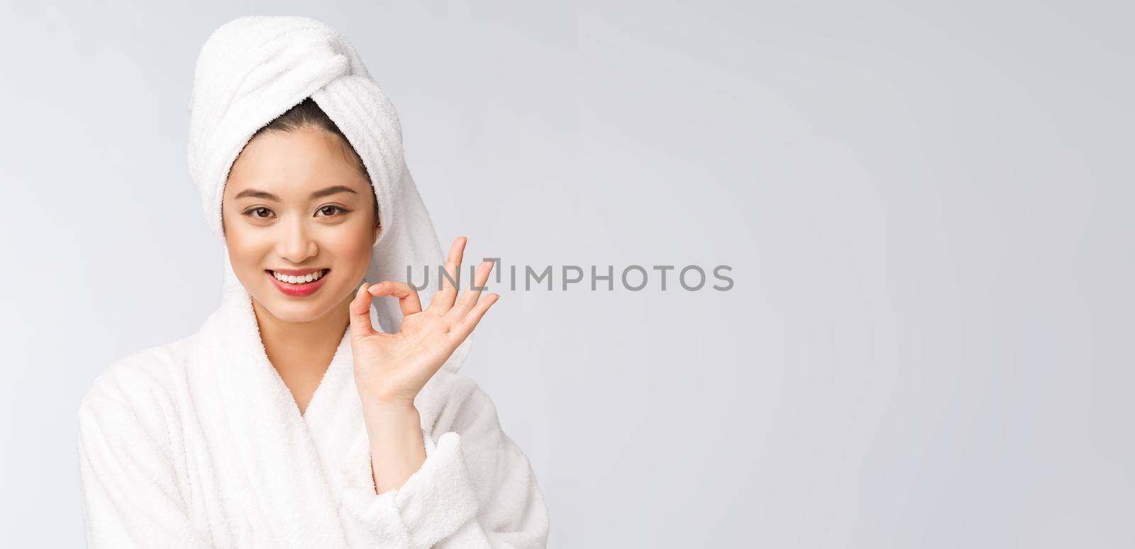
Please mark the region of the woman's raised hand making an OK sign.
<svg viewBox="0 0 1135 549"><path fill-rule="evenodd" d="M466 242L465 237L459 237L449 247L445 270L453 280L460 280ZM491 270L491 261L478 265L473 277L477 287L485 286ZM442 289L434 294L424 311L418 292L406 282L384 280L359 288L351 302L351 349L355 385L363 399L413 406L414 397L426 382L499 297L489 293L481 299L481 290L469 288L457 299L457 288L445 277L442 281ZM371 326L371 296L398 299L403 319L397 333L382 333Z"/></svg>

